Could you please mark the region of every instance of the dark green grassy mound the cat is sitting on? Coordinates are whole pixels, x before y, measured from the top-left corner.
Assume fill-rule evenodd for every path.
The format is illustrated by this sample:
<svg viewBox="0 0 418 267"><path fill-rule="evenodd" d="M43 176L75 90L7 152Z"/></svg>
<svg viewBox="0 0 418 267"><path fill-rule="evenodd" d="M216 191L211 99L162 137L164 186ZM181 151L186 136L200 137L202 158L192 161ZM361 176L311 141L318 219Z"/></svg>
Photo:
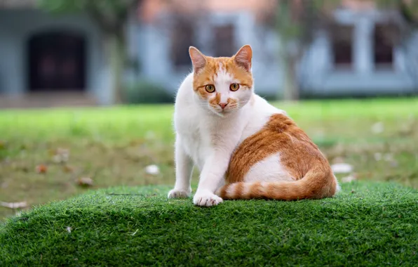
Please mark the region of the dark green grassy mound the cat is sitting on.
<svg viewBox="0 0 418 267"><path fill-rule="evenodd" d="M417 191L397 184L213 208L167 200L169 189L100 190L8 219L0 266L418 265Z"/></svg>

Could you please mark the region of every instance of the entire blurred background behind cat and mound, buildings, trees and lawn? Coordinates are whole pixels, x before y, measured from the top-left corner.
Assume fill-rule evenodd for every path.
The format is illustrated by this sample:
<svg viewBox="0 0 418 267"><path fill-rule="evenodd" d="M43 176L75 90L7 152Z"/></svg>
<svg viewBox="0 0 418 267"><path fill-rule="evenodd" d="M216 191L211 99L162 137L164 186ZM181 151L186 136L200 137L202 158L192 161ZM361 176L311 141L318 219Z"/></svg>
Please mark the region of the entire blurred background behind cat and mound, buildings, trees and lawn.
<svg viewBox="0 0 418 267"><path fill-rule="evenodd" d="M345 181L418 187L417 0L0 0L0 218L86 187L173 183L189 46L244 44L256 93Z"/></svg>

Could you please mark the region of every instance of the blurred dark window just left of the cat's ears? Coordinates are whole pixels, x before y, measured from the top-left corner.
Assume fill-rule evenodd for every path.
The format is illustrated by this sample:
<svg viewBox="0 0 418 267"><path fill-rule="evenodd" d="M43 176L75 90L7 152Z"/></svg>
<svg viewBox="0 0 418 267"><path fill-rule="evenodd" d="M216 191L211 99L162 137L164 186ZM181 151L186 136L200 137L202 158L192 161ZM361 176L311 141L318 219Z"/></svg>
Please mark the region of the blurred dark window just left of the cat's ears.
<svg viewBox="0 0 418 267"><path fill-rule="evenodd" d="M196 46L193 23L185 18L176 18L171 35L171 60L176 67L191 66L189 46Z"/></svg>

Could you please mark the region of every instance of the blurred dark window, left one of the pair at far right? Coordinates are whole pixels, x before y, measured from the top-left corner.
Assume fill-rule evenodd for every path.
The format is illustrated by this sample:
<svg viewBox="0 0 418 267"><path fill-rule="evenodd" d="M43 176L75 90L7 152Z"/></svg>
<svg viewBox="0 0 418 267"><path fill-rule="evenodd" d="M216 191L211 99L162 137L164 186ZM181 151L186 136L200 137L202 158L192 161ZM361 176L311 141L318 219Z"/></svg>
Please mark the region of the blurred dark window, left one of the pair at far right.
<svg viewBox="0 0 418 267"><path fill-rule="evenodd" d="M337 68L351 68L353 64L353 26L333 25L332 56Z"/></svg>

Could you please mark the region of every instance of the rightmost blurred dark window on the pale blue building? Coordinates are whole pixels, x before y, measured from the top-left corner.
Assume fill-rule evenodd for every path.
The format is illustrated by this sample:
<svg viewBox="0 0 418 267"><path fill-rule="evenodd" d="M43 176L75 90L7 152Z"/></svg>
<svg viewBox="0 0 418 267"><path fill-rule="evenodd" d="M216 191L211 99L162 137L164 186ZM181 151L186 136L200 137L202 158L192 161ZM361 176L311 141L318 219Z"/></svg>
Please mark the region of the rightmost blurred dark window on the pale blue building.
<svg viewBox="0 0 418 267"><path fill-rule="evenodd" d="M393 25L375 25L374 59L376 67L391 67L393 65L393 46L396 40L397 28Z"/></svg>

